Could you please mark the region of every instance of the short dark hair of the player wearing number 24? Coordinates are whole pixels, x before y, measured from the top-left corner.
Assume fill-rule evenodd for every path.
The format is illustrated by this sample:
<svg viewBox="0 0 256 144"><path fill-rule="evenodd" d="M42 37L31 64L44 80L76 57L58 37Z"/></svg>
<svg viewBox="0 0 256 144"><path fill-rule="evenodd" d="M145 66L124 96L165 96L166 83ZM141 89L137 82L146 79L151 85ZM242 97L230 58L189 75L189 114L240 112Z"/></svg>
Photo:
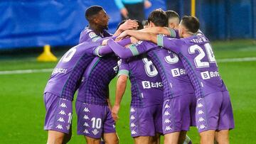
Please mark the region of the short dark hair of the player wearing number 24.
<svg viewBox="0 0 256 144"><path fill-rule="evenodd" d="M194 16L183 16L181 20L181 24L185 26L188 29L188 31L192 33L198 32L200 28L200 23L198 21L198 18Z"/></svg>

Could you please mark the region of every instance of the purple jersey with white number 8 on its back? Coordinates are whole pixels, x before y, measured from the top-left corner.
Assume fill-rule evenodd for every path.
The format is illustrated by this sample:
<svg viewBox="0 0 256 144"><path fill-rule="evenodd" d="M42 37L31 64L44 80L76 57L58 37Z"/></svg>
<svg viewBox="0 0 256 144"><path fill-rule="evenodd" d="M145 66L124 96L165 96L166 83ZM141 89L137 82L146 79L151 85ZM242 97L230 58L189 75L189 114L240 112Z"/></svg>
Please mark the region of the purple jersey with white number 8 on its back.
<svg viewBox="0 0 256 144"><path fill-rule="evenodd" d="M118 75L125 74L132 84L131 106L163 104L163 84L159 72L146 55L120 60Z"/></svg>

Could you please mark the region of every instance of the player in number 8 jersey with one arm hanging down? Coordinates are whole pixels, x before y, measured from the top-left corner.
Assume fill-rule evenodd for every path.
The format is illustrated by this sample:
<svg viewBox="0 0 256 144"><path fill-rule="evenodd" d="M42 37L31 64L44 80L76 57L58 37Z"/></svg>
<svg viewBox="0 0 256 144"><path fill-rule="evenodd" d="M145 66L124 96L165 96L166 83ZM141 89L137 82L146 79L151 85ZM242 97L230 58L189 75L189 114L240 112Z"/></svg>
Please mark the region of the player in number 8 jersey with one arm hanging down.
<svg viewBox="0 0 256 144"><path fill-rule="evenodd" d="M142 28L142 24L139 25L138 29ZM146 55L119 61L119 74L112 116L117 121L117 114L128 77L132 83L129 123L134 142L160 143L160 134L163 133L161 128L163 85L159 73Z"/></svg>

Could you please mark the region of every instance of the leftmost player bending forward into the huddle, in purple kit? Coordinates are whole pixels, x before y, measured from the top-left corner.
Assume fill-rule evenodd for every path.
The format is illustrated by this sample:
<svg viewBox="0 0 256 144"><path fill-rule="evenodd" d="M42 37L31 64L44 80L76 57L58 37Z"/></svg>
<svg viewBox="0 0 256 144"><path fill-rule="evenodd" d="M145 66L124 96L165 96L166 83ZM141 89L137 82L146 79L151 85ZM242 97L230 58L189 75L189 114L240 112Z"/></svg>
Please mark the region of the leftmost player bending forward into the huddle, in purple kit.
<svg viewBox="0 0 256 144"><path fill-rule="evenodd" d="M122 45L131 43L130 40ZM81 43L68 50L56 65L44 90L48 144L67 143L70 140L72 101L82 72L95 55L105 55L107 46L100 43ZM111 51L110 51L111 52Z"/></svg>

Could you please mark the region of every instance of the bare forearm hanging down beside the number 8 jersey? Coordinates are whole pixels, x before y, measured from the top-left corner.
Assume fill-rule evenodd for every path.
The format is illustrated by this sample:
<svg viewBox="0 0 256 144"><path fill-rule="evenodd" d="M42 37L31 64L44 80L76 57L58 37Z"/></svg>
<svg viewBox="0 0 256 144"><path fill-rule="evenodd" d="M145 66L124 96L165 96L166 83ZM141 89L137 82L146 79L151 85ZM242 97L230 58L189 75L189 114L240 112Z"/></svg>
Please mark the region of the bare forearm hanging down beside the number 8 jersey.
<svg viewBox="0 0 256 144"><path fill-rule="evenodd" d="M127 86L127 79L126 75L120 75L117 79L117 89L116 89L116 96L114 101L114 106L112 107L112 117L114 121L118 120L118 112L120 109L120 104L122 101L122 96L124 96L124 92Z"/></svg>

